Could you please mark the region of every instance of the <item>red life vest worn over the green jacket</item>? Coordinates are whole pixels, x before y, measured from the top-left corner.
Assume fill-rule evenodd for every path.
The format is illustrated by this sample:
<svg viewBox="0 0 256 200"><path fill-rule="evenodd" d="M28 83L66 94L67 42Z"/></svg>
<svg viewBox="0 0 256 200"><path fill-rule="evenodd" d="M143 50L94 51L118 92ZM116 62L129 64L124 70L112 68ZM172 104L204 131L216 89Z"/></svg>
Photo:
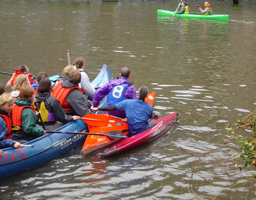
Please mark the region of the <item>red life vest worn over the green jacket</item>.
<svg viewBox="0 0 256 200"><path fill-rule="evenodd" d="M34 113L36 113L35 108L32 106L18 106L14 103L12 107L12 124L15 126L19 126L22 129L22 120L21 115L24 108L31 108ZM25 133L23 131L19 131L18 133Z"/></svg>

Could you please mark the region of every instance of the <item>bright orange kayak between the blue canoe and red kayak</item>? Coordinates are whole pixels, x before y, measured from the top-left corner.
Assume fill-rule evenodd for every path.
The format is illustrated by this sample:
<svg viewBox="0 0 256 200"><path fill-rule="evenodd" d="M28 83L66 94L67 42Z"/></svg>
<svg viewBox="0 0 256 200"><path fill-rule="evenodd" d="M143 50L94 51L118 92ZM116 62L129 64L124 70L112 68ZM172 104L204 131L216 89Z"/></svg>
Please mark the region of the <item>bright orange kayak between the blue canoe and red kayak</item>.
<svg viewBox="0 0 256 200"><path fill-rule="evenodd" d="M149 103L151 106L153 106L154 100L155 100L156 92L152 92L148 94L148 97L145 99L147 103ZM102 124L99 124L99 126L95 123L94 125L89 125L89 132L90 133L111 133L111 131L122 131L122 134L128 134L128 125L126 122L123 122L121 118L114 117L114 116L106 116L106 115L95 115L95 119L107 122L107 125L102 126ZM84 116L86 117L86 115ZM104 148L108 145L111 145L121 138L117 139L111 139L109 137L100 136L100 135L88 135L85 139L84 146L81 150L82 155L87 155L91 153L92 151Z"/></svg>

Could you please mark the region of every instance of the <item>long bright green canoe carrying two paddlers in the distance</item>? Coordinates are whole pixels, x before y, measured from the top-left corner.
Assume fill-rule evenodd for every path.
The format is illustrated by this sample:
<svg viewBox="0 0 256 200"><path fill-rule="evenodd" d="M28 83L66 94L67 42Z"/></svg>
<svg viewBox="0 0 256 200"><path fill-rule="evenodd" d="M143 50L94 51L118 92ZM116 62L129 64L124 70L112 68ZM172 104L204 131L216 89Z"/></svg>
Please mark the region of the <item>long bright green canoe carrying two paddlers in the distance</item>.
<svg viewBox="0 0 256 200"><path fill-rule="evenodd" d="M209 14L209 15L204 15L201 13L174 14L173 11L165 11L165 10L157 10L157 14L171 16L171 17L194 18L194 19L210 19L210 20L228 20L229 19L229 15L227 14Z"/></svg>

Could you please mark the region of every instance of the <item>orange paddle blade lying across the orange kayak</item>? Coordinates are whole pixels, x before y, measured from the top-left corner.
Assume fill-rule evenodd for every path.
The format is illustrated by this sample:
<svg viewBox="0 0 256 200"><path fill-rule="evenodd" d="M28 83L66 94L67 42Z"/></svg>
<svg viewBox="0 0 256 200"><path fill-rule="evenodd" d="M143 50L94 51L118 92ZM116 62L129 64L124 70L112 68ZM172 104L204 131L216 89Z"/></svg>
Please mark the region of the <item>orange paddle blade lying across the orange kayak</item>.
<svg viewBox="0 0 256 200"><path fill-rule="evenodd" d="M91 126L108 126L108 116L99 114L87 114L81 117L86 124Z"/></svg>

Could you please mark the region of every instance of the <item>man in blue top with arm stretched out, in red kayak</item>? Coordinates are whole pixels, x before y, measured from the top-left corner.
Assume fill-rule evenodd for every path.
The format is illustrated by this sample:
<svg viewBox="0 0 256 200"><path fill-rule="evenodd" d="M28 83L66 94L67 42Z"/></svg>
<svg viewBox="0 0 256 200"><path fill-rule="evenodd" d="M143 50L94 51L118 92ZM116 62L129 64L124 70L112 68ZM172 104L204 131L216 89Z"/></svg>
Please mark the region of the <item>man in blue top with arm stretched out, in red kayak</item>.
<svg viewBox="0 0 256 200"><path fill-rule="evenodd" d="M130 134L137 134L147 130L150 127L149 119L152 117L153 107L145 102L147 95L148 88L146 86L142 86L138 91L137 99L126 99L117 103L116 105L100 108L91 107L91 109L95 111L125 111Z"/></svg>

